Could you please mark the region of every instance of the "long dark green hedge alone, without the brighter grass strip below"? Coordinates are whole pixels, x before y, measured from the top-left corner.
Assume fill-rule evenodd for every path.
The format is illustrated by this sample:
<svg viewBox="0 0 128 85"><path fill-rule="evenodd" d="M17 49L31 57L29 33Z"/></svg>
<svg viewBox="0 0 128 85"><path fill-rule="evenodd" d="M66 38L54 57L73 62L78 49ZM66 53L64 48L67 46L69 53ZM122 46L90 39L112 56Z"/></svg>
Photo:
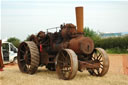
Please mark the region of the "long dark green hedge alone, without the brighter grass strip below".
<svg viewBox="0 0 128 85"><path fill-rule="evenodd" d="M128 49L128 36L102 38L98 40L96 47Z"/></svg>

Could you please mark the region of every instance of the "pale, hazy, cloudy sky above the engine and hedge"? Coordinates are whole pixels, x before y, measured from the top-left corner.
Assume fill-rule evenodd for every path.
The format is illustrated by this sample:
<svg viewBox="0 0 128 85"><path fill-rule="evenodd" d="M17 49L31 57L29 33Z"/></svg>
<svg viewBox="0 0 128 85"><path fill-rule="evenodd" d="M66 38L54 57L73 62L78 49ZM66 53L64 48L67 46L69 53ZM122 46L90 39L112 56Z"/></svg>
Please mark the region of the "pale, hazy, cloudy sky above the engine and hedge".
<svg viewBox="0 0 128 85"><path fill-rule="evenodd" d="M24 40L63 23L76 25L77 6L84 7L84 27L96 32L128 32L128 0L2 0L0 4L2 39Z"/></svg>

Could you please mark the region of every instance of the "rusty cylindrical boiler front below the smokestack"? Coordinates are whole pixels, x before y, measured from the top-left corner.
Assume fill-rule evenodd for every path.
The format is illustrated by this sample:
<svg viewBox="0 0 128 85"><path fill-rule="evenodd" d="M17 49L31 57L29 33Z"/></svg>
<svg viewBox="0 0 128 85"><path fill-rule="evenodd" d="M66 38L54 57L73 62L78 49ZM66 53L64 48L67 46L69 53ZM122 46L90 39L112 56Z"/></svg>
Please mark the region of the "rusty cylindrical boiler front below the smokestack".
<svg viewBox="0 0 128 85"><path fill-rule="evenodd" d="M78 54L91 54L94 49L94 43L89 37L80 36L70 40L69 48Z"/></svg>

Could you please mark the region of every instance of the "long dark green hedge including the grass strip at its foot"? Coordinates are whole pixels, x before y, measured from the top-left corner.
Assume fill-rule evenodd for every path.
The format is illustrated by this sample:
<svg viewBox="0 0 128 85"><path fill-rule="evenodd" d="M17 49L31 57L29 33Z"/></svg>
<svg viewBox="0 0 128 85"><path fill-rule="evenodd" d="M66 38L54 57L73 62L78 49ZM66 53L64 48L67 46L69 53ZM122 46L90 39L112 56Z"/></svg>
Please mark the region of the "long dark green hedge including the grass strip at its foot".
<svg viewBox="0 0 128 85"><path fill-rule="evenodd" d="M108 53L128 53L128 36L102 38L95 47L104 48Z"/></svg>

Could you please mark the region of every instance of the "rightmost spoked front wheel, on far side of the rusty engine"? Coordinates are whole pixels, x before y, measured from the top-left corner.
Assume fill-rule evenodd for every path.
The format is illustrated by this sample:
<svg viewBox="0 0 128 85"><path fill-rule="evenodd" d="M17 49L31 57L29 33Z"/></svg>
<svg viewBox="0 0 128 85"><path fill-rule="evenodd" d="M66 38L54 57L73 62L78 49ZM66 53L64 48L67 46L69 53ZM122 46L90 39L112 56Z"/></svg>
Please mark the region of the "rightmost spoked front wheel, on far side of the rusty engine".
<svg viewBox="0 0 128 85"><path fill-rule="evenodd" d="M104 76L109 69L109 58L107 53L102 48L94 49L92 54L92 61L100 63L98 68L87 69L88 72L93 76Z"/></svg>

